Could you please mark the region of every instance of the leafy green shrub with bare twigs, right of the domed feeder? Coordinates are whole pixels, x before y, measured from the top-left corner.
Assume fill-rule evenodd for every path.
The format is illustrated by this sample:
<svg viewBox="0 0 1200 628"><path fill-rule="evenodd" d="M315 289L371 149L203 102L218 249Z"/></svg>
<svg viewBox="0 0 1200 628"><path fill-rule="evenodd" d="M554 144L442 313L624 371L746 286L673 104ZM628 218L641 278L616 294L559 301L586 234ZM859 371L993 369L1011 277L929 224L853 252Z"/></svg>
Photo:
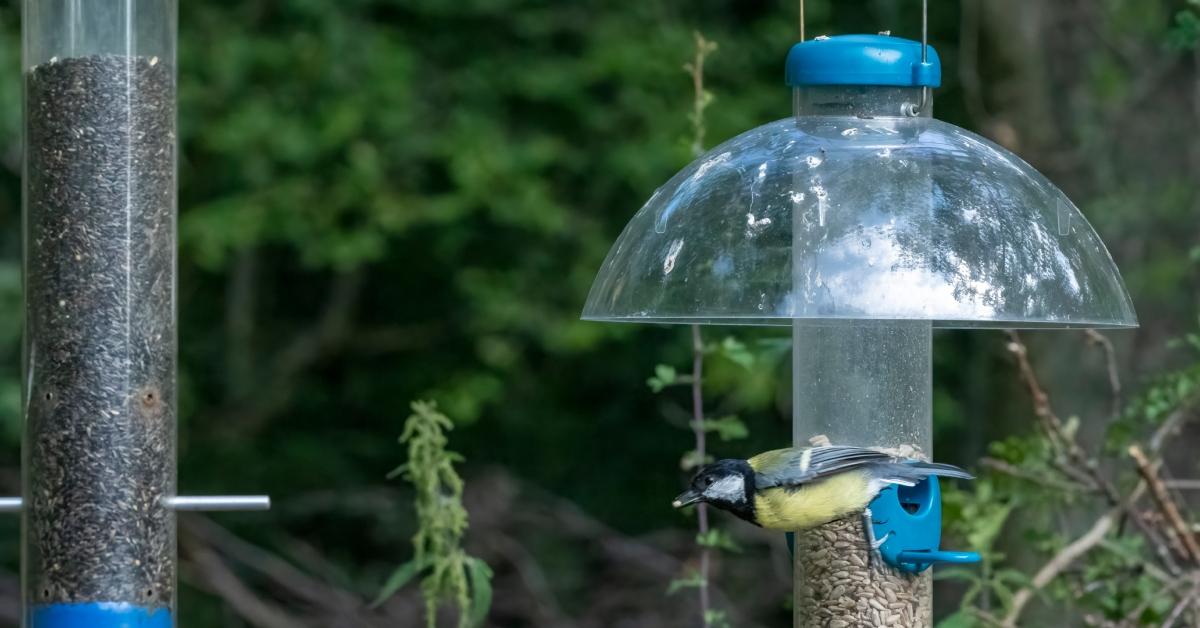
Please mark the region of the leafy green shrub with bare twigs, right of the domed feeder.
<svg viewBox="0 0 1200 628"><path fill-rule="evenodd" d="M984 560L980 569L938 572L967 586L960 610L940 626L1019 626L1034 599L1080 614L1092 626L1193 626L1200 548L1189 538L1193 513L1169 489L1163 454L1200 413L1196 353L1190 366L1160 377L1110 415L1106 442L1092 449L1078 438L1079 418L1062 420L1055 413L1020 336L1010 333L1010 339L1039 430L994 443L991 457L983 460L988 473L973 489L946 491L948 530ZM1104 336L1091 333L1090 339L1111 349ZM1200 349L1194 334L1174 345ZM1121 385L1111 375L1115 358L1106 354L1116 400ZM1055 502L1091 507L1098 516L1082 533L1062 522L1057 531L1046 530L1037 513ZM1027 573L1007 563L995 549L1006 528L1022 533L1024 545L1044 555L1044 564Z"/></svg>

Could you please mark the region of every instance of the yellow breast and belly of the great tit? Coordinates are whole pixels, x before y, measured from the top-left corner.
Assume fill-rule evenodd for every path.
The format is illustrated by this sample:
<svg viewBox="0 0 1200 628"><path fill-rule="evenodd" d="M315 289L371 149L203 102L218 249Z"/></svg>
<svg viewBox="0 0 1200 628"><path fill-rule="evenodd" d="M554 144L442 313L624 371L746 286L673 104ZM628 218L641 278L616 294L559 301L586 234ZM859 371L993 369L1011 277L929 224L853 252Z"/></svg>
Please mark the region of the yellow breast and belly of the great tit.
<svg viewBox="0 0 1200 628"><path fill-rule="evenodd" d="M798 489L755 494L758 525L772 530L808 530L866 508L866 473L851 471Z"/></svg>

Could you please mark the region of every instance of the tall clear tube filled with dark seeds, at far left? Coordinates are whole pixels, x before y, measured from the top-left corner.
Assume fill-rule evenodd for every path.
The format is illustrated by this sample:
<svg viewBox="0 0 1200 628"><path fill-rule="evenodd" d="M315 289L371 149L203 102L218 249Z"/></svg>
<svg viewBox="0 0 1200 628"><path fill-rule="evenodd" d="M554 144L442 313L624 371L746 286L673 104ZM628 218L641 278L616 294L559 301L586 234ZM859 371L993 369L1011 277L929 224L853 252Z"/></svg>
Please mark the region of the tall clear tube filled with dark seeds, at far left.
<svg viewBox="0 0 1200 628"><path fill-rule="evenodd" d="M174 624L175 0L25 0L25 626Z"/></svg>

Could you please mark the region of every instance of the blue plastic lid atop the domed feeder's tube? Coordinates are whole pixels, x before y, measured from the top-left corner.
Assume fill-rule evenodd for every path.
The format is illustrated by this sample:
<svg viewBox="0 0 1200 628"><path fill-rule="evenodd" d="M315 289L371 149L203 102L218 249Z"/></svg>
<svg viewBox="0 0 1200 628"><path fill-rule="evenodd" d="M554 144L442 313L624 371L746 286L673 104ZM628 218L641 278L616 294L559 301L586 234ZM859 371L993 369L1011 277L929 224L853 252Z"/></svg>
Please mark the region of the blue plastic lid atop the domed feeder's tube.
<svg viewBox="0 0 1200 628"><path fill-rule="evenodd" d="M942 61L932 46L928 59L920 61L920 42L889 35L818 37L792 46L787 84L940 86Z"/></svg>

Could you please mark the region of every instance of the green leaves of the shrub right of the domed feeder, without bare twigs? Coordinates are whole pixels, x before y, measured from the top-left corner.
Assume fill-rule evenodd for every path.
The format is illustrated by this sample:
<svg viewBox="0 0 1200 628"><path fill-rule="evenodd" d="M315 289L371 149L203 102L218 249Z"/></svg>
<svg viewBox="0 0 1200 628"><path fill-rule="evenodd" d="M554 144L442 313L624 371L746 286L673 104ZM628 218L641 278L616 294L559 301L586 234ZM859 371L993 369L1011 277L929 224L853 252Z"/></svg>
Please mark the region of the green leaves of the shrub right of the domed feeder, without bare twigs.
<svg viewBox="0 0 1200 628"><path fill-rule="evenodd" d="M1128 447L1150 439L1169 417L1195 412L1200 405L1200 347L1194 336L1186 334L1181 341L1172 342L1186 351L1189 364L1158 377L1109 424L1099 460L1086 461L1094 463L1094 469L1079 468L1075 459L1062 450L1062 443L1075 442L1079 432L1081 421L1073 417L1063 421L1054 438L1039 432L994 443L988 473L971 489L947 488L943 494L947 530L979 551L983 564L979 569L937 572L940 579L966 585L960 610L940 626L992 626L1018 606L1018 592L1026 597L1036 594L1044 604L1069 608L1075 614L1120 622L1120 626L1164 622L1182 596L1188 594L1182 588L1190 580L1159 567L1156 550L1150 546L1159 542L1147 542L1152 537L1141 531L1146 524L1096 528L1104 536L1081 550L1073 549L1069 562L1040 586L1034 585L1032 572L1025 572L1020 562L1009 561L1006 554L997 551L997 544L1007 534L1019 538L1022 549L1032 554L1062 560L1068 544L1078 546L1080 532L1055 530L1046 521L1049 512L1061 512L1066 503L1076 510L1099 510L1104 513L1112 508L1114 500L1126 500L1123 494L1111 500L1102 497L1109 490L1129 490L1129 483L1121 482L1120 473L1120 469L1126 469L1126 474L1132 472ZM1106 471L1102 471L1106 468L1118 472L1109 479L1103 476ZM1103 483L1109 488L1092 480L1096 473L1105 478ZM1145 520L1141 513L1136 516Z"/></svg>

